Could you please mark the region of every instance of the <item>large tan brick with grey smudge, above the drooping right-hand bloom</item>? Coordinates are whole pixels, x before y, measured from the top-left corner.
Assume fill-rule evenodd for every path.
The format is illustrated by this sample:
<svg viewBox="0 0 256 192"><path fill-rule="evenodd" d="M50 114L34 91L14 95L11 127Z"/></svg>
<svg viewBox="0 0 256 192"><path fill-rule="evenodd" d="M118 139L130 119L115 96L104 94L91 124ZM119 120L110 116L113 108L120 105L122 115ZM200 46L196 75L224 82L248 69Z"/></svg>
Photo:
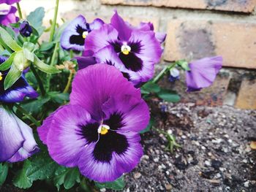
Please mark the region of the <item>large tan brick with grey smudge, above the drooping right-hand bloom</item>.
<svg viewBox="0 0 256 192"><path fill-rule="evenodd" d="M256 23L170 20L166 61L222 55L224 66L256 69Z"/></svg>

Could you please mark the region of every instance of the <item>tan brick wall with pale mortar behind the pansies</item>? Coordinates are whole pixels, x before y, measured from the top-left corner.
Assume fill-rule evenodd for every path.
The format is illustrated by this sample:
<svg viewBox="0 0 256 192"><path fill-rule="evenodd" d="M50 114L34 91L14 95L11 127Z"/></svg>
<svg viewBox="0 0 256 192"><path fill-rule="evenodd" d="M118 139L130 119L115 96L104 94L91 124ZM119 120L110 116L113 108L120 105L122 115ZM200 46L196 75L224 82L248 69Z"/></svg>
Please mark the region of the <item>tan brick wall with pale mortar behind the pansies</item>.
<svg viewBox="0 0 256 192"><path fill-rule="evenodd" d="M45 24L49 25L54 1L21 1L25 12L34 9L32 4L45 7ZM116 8L134 24L151 20L157 31L167 32L164 61L159 69L180 58L222 55L227 67L222 73L228 78L220 75L216 85L225 88L219 91L218 86L213 86L214 90L206 93L221 93L214 104L256 109L256 0L60 0L59 7L59 18L65 19L83 14L88 20L100 17L108 21Z"/></svg>

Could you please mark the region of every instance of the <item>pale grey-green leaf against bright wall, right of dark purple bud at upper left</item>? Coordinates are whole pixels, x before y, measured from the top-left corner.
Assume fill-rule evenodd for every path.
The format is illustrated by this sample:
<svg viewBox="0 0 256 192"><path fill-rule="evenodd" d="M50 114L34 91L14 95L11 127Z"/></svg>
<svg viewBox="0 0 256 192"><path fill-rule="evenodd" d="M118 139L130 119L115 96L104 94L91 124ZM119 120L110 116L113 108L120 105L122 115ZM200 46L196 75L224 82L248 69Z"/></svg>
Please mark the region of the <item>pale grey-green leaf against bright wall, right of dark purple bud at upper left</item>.
<svg viewBox="0 0 256 192"><path fill-rule="evenodd" d="M39 34L42 34L44 27L42 26L42 19L45 17L45 9L43 7L38 7L34 12L30 12L29 16L26 18L29 24L37 30Z"/></svg>

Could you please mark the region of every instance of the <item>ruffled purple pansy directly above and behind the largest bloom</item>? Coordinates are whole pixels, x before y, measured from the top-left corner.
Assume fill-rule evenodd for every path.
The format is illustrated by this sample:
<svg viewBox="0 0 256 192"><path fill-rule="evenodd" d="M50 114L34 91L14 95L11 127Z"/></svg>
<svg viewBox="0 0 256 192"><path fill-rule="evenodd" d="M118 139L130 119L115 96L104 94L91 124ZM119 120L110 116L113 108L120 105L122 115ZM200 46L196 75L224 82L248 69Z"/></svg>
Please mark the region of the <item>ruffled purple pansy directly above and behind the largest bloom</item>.
<svg viewBox="0 0 256 192"><path fill-rule="evenodd" d="M97 63L116 66L134 85L153 77L154 64L162 55L154 31L129 27L117 12L111 24L89 34L85 50L94 52Z"/></svg>

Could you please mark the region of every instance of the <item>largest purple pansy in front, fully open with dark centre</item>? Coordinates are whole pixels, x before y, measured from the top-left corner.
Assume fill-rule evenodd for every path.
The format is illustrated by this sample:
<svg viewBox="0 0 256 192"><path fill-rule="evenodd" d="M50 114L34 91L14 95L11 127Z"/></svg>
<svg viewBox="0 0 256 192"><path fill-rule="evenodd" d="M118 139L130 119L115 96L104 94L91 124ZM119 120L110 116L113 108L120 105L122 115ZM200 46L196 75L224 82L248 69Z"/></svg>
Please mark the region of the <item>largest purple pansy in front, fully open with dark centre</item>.
<svg viewBox="0 0 256 192"><path fill-rule="evenodd" d="M140 90L115 67L95 64L78 71L70 104L53 112L38 132L56 162L78 166L91 180L110 182L139 163L139 131L148 120Z"/></svg>

